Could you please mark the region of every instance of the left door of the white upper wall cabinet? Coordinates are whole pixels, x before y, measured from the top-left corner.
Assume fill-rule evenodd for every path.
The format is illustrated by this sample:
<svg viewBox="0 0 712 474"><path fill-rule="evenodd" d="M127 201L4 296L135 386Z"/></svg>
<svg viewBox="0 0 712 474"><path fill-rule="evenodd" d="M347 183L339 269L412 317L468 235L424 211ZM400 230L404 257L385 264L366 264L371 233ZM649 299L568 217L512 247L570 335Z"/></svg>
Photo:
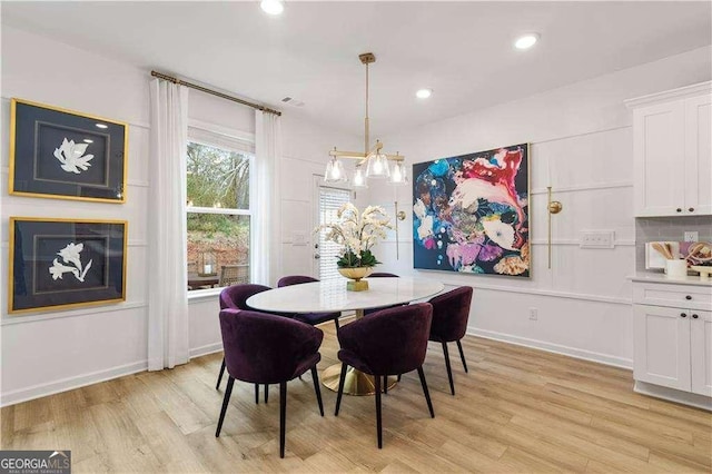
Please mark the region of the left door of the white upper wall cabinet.
<svg viewBox="0 0 712 474"><path fill-rule="evenodd" d="M684 100L676 100L633 113L636 216L680 216L685 209L684 109Z"/></svg>

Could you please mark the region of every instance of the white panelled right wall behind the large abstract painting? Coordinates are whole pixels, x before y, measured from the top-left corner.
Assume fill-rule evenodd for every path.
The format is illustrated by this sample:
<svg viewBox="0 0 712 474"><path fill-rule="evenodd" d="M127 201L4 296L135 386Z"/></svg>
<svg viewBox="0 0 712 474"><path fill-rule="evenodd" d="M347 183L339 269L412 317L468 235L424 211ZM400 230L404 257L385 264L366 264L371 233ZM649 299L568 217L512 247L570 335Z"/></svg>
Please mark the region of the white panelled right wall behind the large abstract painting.
<svg viewBox="0 0 712 474"><path fill-rule="evenodd" d="M412 216L395 241L378 251L383 270L469 285L475 296L469 333L632 366L631 275L635 256L632 116L627 98L710 79L710 47L617 71L526 99L478 110L385 138L419 162L531 142L531 279L413 270ZM483 91L486 93L486 91ZM432 100L437 100L434 96ZM546 195L551 162L554 198L553 265L547 268ZM412 180L414 177L411 177ZM411 187L370 186L370 200L412 209ZM578 247L584 229L615 230L614 249ZM538 320L530 320L537 308Z"/></svg>

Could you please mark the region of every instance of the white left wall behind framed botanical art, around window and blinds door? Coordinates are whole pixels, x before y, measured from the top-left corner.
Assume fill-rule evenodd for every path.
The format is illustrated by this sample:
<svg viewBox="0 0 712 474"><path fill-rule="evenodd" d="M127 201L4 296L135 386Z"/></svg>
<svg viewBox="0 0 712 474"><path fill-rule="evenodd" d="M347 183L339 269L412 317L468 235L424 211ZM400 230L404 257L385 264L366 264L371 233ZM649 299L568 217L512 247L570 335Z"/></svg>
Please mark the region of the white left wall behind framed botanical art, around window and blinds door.
<svg viewBox="0 0 712 474"><path fill-rule="evenodd" d="M147 359L147 195L149 187L148 71L3 26L0 124L0 398L3 405L146 368ZM72 65L68 67L67 65ZM80 66L80 67L79 67ZM127 203L98 204L8 195L10 98L23 98L113 118L129 124ZM190 91L189 118L249 136L254 110ZM357 137L312 126L286 111L285 155L280 166L283 211L287 220L313 207L300 184L323 172L335 144L353 147ZM275 186L278 184L275 182ZM310 188L309 188L310 189ZM129 221L125 303L67 312L7 314L8 217L83 217ZM309 224L310 226L310 224ZM309 230L309 228L307 228ZM291 247L289 245L289 247ZM291 249L290 249L291 250ZM309 273L310 247L287 253L285 273ZM190 352L221 347L217 295L190 300Z"/></svg>

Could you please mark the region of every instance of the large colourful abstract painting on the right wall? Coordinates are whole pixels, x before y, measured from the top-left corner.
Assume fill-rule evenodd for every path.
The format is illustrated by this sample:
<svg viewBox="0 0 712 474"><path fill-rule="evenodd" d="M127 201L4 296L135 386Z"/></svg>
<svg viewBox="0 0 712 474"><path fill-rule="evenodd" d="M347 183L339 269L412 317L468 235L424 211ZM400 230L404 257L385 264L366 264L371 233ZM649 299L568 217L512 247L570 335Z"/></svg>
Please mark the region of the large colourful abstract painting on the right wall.
<svg viewBox="0 0 712 474"><path fill-rule="evenodd" d="M415 268L528 277L528 145L413 165Z"/></svg>

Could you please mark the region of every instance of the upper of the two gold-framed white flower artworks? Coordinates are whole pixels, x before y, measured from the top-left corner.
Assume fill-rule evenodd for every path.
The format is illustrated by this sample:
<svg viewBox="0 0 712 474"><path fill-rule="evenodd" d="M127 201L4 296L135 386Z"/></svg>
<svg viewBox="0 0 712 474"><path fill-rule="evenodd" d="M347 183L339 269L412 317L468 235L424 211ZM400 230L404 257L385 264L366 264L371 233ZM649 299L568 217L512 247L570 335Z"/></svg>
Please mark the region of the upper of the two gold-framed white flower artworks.
<svg viewBox="0 0 712 474"><path fill-rule="evenodd" d="M12 99L10 194L126 201L128 125Z"/></svg>

